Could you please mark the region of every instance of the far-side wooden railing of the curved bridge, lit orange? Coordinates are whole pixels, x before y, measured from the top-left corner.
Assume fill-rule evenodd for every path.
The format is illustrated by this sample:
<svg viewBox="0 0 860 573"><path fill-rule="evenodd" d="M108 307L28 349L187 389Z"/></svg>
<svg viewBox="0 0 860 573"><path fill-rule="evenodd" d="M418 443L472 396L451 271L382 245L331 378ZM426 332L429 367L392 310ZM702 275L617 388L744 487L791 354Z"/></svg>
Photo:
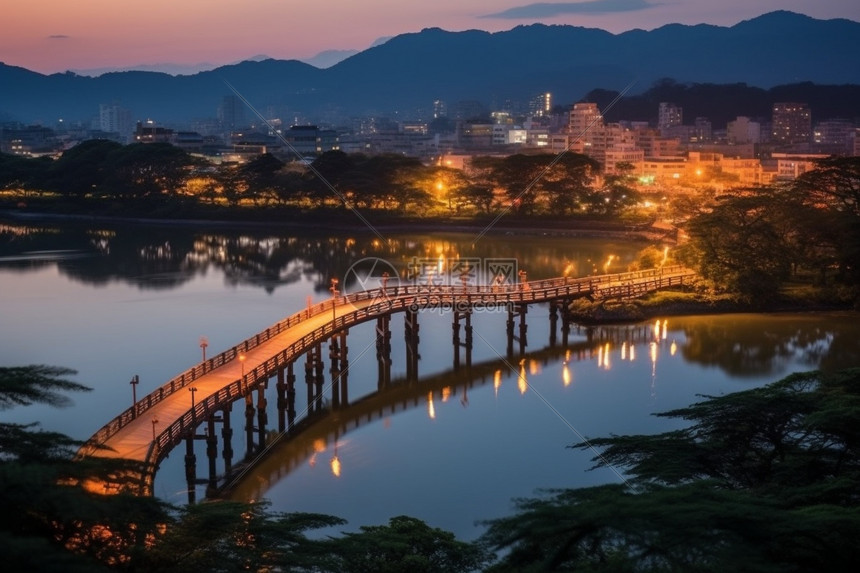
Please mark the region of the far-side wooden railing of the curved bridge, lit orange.
<svg viewBox="0 0 860 573"><path fill-rule="evenodd" d="M213 356L209 360L186 370L173 379L169 380L156 390L150 392L133 406L127 408L116 416L113 420L105 424L99 429L88 441L88 446L84 449L92 449L97 444L104 443L111 436L119 432L132 420L145 413L154 405L161 402L167 396L170 396L177 390L180 390L191 384L200 376L219 368L227 363L235 360L243 352L259 346L267 342L274 336L296 326L297 324L306 321L310 318L318 316L324 312L331 312L335 305L345 306L347 304L363 303L365 301L378 300L383 304L390 304L391 301L401 301L405 297L410 305L418 307L441 306L443 304L453 304L460 297L466 297L469 304L475 304L474 297L480 297L480 304L499 304L499 303L529 303L541 302L545 300L564 298L567 296L580 295L585 292L593 292L595 289L602 289L605 285L612 285L619 282L642 281L646 278L667 277L671 275L691 276L692 271L680 266L672 265L660 267L656 269L646 269L641 271L632 271L624 273L616 273L610 275L594 275L586 277L559 277L546 280L529 281L525 283L503 284L503 285L432 285L432 284L412 284L406 286L388 286L385 289L373 289L358 291L342 297L337 300L326 300L314 305L309 305L306 309L296 312L280 322L270 326L266 330L257 333L236 346L225 350ZM674 283L679 284L679 283ZM666 285L668 286L668 285ZM642 291L646 292L646 291ZM615 295L619 296L619 295ZM419 298L420 297L420 298ZM443 298L444 297L444 298ZM380 307L376 306L375 309ZM397 308L387 307L383 312L396 312L406 310L402 304L398 304ZM372 315L376 316L376 315ZM366 315L360 310L356 313L349 313L337 317L333 323L327 323L321 329L317 329L313 334L322 331L322 335L328 335L343 328L347 328L349 324L346 319L351 317L361 317L360 320L354 323L364 322L372 318L371 315ZM327 329L331 326L330 329ZM307 337L304 337L307 338ZM304 340L304 338L302 340Z"/></svg>

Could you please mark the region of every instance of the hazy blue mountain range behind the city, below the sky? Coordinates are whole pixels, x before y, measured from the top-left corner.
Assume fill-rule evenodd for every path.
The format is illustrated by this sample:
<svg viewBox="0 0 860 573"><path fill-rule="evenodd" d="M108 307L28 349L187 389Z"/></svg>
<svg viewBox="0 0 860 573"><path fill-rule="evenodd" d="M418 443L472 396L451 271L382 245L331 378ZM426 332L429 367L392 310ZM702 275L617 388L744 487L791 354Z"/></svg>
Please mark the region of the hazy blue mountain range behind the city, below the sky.
<svg viewBox="0 0 860 573"><path fill-rule="evenodd" d="M672 24L610 34L574 26L505 32L438 28L395 36L320 69L290 60L242 62L193 75L43 75L0 64L0 117L52 124L89 119L117 102L135 119L213 117L230 82L266 115L314 121L357 115L427 117L431 102L490 106L552 92L570 104L595 88L642 94L681 84L860 84L860 23L772 12L731 27ZM423 112L419 110L424 110ZM814 111L814 110L813 110ZM688 112L685 112L687 115ZM250 116L250 114L249 114Z"/></svg>

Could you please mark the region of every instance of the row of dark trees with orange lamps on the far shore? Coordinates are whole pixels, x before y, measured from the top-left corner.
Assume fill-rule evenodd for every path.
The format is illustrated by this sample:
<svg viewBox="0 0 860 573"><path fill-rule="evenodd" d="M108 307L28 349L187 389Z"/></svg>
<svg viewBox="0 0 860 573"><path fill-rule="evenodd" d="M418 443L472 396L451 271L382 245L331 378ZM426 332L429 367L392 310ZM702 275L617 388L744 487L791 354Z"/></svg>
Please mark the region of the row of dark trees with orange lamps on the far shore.
<svg viewBox="0 0 860 573"><path fill-rule="evenodd" d="M401 214L620 215L638 201L630 176L598 177L576 153L478 157L473 168L396 154L330 151L311 164L271 154L213 165L166 143L85 141L57 160L0 155L0 189L56 193L104 206L134 202L169 215L190 207L343 208ZM148 213L138 212L143 216Z"/></svg>

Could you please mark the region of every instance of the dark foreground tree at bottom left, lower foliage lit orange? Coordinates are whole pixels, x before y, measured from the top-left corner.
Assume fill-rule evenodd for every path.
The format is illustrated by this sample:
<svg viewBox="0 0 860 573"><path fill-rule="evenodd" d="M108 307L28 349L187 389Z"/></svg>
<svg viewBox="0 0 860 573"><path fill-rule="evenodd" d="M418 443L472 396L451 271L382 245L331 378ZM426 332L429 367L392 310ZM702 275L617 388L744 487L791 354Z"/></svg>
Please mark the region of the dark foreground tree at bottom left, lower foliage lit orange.
<svg viewBox="0 0 860 573"><path fill-rule="evenodd" d="M62 406L63 392L87 390L66 368L0 368L0 409ZM73 462L82 444L34 424L0 423L0 552L4 570L95 571L127 563L156 535L166 506L153 498L90 491L90 480L140 468L122 460Z"/></svg>

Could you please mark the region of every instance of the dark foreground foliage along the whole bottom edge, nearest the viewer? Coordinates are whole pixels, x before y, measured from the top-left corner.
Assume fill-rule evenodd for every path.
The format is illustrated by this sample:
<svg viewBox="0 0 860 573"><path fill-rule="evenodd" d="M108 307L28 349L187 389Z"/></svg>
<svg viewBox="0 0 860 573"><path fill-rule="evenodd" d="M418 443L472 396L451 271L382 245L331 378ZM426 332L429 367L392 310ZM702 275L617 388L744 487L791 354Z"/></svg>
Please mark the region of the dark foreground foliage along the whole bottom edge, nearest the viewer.
<svg viewBox="0 0 860 573"><path fill-rule="evenodd" d="M0 368L0 407L62 404L74 372ZM660 414L684 429L574 444L623 483L541 492L474 541L392 517L339 536L330 515L265 503L175 507L104 495L80 445L0 423L0 550L9 571L841 571L860 553L860 370L793 374ZM563 455L563 454L561 454ZM476 516L480 518L480 516Z"/></svg>

